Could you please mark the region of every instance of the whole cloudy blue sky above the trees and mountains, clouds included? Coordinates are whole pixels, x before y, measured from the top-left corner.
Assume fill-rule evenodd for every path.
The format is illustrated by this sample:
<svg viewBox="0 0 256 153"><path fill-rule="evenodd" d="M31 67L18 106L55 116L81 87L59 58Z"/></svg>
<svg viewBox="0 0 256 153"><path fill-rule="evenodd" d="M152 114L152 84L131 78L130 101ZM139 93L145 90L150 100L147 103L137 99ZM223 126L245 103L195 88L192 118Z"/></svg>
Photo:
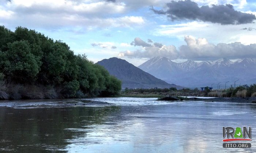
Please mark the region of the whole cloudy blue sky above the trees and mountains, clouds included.
<svg viewBox="0 0 256 153"><path fill-rule="evenodd" d="M89 60L117 57L139 66L256 58L253 0L0 0L0 25L63 40Z"/></svg>

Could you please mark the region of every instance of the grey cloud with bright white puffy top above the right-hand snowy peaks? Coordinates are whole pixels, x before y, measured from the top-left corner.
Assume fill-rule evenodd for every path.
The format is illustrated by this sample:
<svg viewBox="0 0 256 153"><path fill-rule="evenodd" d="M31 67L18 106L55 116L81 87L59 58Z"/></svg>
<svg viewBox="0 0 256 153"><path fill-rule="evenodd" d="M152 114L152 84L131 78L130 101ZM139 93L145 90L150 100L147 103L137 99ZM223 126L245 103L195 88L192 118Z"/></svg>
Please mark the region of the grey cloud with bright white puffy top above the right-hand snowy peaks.
<svg viewBox="0 0 256 153"><path fill-rule="evenodd" d="M185 36L187 45L179 47L179 57L193 60L214 60L219 58L256 58L256 44L244 45L240 42L208 43L205 38Z"/></svg>

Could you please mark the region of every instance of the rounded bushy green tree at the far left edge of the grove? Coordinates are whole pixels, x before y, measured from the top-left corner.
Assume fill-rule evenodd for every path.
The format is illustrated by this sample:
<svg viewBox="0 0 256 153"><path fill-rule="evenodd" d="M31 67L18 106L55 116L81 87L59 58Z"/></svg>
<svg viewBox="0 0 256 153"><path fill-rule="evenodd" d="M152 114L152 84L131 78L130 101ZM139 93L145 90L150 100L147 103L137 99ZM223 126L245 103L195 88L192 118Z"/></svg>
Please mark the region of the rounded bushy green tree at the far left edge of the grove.
<svg viewBox="0 0 256 153"><path fill-rule="evenodd" d="M1 52L0 65L7 81L16 83L31 83L36 80L36 76L41 66L39 58L31 53L27 41L15 41L8 43L8 50Z"/></svg>

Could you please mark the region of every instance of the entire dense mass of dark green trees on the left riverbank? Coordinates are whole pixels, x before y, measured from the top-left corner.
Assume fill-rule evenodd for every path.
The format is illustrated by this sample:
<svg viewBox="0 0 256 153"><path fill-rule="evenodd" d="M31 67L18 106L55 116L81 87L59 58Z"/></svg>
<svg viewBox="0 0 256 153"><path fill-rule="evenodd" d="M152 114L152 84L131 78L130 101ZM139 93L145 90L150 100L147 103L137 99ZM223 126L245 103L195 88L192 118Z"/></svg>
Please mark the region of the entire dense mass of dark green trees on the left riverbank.
<svg viewBox="0 0 256 153"><path fill-rule="evenodd" d="M66 43L41 33L0 26L0 79L13 85L50 86L63 97L116 95L121 81L89 61L74 55Z"/></svg>

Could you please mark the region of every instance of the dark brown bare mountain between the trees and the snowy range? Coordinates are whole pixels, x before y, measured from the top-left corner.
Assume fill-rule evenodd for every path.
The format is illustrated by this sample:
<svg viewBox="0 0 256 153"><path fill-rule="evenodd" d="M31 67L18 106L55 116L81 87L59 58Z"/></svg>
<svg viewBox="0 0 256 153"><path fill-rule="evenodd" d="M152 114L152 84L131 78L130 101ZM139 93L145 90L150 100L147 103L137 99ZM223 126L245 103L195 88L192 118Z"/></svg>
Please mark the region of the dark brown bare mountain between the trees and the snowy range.
<svg viewBox="0 0 256 153"><path fill-rule="evenodd" d="M123 84L122 88L151 88L151 87L176 87L182 89L183 87L174 84L166 83L153 75L144 72L140 68L128 63L126 60L119 58L103 59L96 64L106 68L111 75L120 79Z"/></svg>

